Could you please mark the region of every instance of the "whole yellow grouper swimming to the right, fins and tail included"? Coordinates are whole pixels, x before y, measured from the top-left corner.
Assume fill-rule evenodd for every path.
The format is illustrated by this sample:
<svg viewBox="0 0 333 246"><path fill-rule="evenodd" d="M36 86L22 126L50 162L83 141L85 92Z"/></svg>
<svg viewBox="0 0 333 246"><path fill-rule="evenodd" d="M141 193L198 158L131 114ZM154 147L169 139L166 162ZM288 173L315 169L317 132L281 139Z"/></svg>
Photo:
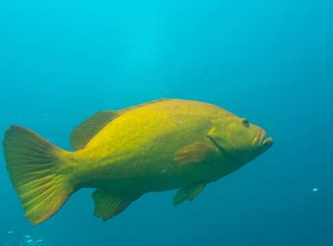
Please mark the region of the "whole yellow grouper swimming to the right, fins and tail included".
<svg viewBox="0 0 333 246"><path fill-rule="evenodd" d="M193 100L160 99L100 111L71 133L75 152L21 126L5 132L10 179L33 224L54 215L75 191L93 187L96 217L108 220L152 191L180 188L173 204L268 150L271 137L245 118Z"/></svg>

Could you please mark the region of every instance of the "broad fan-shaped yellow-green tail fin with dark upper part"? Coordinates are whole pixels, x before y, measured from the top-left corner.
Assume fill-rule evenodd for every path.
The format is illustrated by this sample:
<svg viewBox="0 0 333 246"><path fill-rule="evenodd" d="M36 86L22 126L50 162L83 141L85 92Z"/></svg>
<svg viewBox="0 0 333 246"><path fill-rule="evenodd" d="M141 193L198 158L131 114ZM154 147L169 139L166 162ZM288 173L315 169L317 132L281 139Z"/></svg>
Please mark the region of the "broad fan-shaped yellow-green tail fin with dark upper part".
<svg viewBox="0 0 333 246"><path fill-rule="evenodd" d="M5 132L3 148L25 217L32 225L49 219L74 191L64 173L66 152L33 131L14 125Z"/></svg>

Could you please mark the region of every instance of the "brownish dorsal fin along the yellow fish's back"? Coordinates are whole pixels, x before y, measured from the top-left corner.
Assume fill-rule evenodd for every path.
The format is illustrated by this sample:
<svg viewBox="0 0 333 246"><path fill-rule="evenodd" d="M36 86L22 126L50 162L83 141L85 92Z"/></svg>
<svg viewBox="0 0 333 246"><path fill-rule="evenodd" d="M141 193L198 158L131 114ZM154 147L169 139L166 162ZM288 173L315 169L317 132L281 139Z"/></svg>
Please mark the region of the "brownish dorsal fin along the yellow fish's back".
<svg viewBox="0 0 333 246"><path fill-rule="evenodd" d="M92 139L97 133L99 133L99 131L101 131L102 128L104 128L104 126L112 122L112 120L117 118L119 115L163 100L169 99L162 98L151 102L145 102L140 105L127 107L126 109L105 110L95 113L90 118L76 126L69 135L72 150L81 150L84 148L90 139Z"/></svg>

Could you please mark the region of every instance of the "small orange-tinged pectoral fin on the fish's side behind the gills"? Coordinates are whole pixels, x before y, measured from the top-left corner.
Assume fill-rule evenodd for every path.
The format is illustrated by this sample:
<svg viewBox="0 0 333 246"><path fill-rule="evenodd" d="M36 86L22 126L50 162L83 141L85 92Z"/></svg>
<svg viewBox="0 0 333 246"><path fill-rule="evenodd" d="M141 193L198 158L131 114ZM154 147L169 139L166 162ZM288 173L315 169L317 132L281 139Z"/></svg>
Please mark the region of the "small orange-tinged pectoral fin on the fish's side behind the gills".
<svg viewBox="0 0 333 246"><path fill-rule="evenodd" d="M214 146L209 143L193 143L175 152L173 161L175 161L175 163L179 163L180 165L188 163L201 163L203 161L208 161L214 152Z"/></svg>

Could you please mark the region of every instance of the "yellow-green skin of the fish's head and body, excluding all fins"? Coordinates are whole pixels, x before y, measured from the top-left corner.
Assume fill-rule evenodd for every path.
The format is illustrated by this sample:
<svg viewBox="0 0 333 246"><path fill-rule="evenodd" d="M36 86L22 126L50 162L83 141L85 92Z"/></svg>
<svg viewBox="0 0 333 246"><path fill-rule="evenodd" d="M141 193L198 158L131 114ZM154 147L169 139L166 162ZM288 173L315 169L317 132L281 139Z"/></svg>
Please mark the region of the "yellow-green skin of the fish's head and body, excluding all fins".
<svg viewBox="0 0 333 246"><path fill-rule="evenodd" d="M161 100L123 113L73 152L70 179L75 190L95 187L130 197L190 187L230 174L267 150L272 141L262 147L264 135L216 105ZM177 151L202 142L213 150L204 159L175 159Z"/></svg>

